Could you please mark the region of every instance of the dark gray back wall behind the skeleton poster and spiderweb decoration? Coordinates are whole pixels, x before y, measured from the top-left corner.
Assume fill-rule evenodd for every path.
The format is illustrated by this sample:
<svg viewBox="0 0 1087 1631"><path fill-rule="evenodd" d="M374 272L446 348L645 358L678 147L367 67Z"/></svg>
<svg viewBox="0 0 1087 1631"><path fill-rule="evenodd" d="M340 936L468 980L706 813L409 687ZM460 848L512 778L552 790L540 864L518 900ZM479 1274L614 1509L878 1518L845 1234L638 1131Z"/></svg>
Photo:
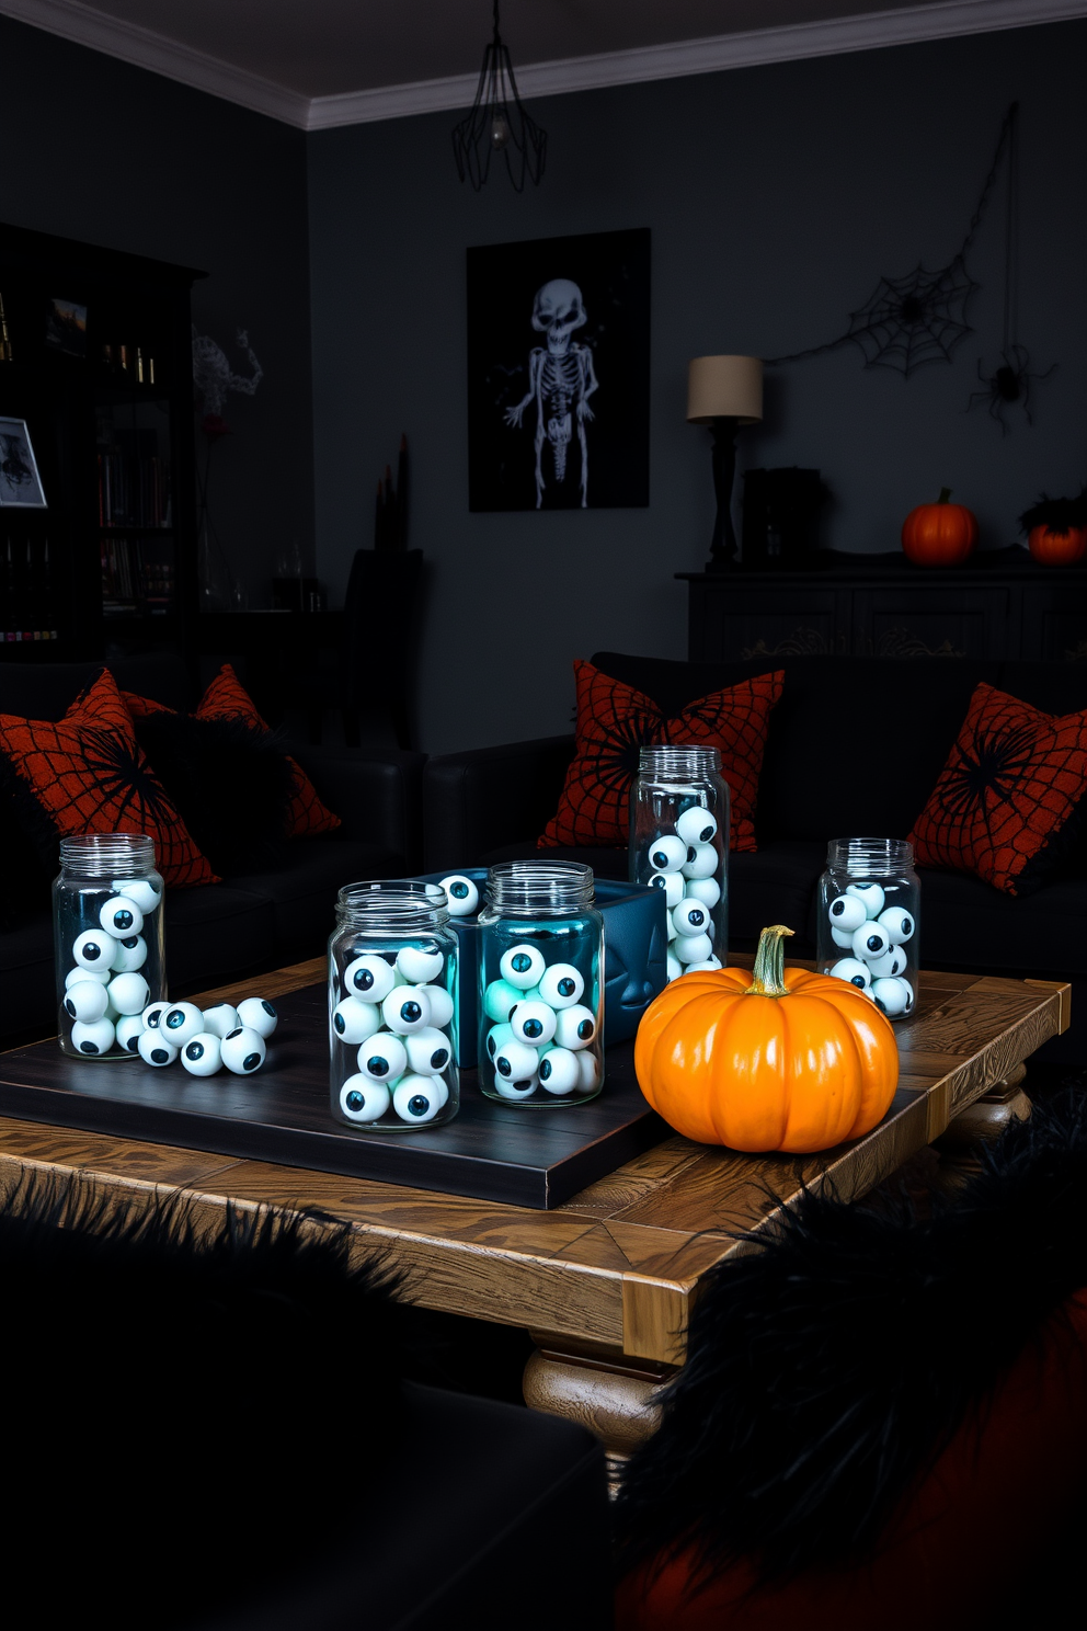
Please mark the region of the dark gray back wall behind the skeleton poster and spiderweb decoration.
<svg viewBox="0 0 1087 1631"><path fill-rule="evenodd" d="M372 538L375 478L406 429L412 533L432 563L420 724L432 752L566 727L570 659L684 652L673 572L706 558L707 432L684 424L686 362L772 356L839 334L878 276L958 248L996 132L1022 101L1022 338L1035 427L965 413L1001 338L1002 202L970 259L976 333L909 382L844 349L779 370L746 463L818 465L826 540L890 550L940 486L984 545L1012 541L1040 488L1087 475L1087 24L826 57L559 96L543 186L456 179L455 114L310 137L319 569L342 594ZM469 515L464 248L619 227L654 230L652 504ZM530 334L526 331L526 343ZM601 382L598 413L606 413Z"/></svg>

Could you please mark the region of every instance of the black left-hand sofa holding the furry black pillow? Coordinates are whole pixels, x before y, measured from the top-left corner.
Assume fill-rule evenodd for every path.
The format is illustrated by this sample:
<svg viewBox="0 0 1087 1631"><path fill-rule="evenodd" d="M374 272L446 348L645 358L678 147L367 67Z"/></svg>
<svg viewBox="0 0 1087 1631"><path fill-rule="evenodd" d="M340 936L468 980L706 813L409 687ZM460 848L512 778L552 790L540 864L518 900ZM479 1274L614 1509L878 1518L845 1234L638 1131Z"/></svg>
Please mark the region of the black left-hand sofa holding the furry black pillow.
<svg viewBox="0 0 1087 1631"><path fill-rule="evenodd" d="M0 713L60 719L101 667L7 662ZM200 687L181 657L125 657L109 669L122 690L169 708L199 701ZM422 754L285 745L342 825L293 838L275 871L168 891L166 972L174 997L319 956L341 884L403 876L419 863ZM44 902L28 922L0 931L0 1045L44 1034L54 1021L52 922Z"/></svg>

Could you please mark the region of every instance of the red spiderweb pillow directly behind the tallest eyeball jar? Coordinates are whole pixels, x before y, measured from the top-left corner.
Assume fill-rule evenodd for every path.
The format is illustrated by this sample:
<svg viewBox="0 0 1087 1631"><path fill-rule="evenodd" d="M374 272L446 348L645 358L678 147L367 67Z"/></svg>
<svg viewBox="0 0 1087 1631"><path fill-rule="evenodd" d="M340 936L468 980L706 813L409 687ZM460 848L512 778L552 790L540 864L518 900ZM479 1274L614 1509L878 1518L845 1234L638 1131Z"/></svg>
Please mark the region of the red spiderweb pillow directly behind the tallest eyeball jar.
<svg viewBox="0 0 1087 1631"><path fill-rule="evenodd" d="M613 680L592 662L575 662L577 750L566 773L559 809L539 848L624 845L629 838L631 783L639 749L658 744L720 749L720 771L732 794L732 850L755 850L755 801L769 711L784 672L759 674L688 703L675 719L644 692Z"/></svg>

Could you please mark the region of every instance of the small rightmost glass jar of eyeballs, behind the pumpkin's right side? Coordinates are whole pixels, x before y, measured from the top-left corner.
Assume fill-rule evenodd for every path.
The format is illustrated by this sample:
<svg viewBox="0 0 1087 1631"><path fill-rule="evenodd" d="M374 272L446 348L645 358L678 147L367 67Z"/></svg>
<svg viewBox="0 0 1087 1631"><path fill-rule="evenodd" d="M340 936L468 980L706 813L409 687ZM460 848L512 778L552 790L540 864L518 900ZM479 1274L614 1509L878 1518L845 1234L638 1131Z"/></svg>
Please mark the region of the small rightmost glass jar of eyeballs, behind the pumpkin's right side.
<svg viewBox="0 0 1087 1631"><path fill-rule="evenodd" d="M918 1005L921 879L904 838L833 838L820 877L820 974L851 980L888 1019Z"/></svg>

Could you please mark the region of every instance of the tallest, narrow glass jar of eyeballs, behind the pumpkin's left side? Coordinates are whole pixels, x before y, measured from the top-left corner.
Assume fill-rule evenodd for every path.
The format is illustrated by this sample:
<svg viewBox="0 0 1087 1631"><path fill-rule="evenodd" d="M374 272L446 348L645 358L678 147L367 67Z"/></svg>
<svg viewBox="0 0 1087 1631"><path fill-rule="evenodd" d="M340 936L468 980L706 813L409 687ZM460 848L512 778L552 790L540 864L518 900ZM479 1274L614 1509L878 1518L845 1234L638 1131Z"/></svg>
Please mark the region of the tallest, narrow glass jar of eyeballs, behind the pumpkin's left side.
<svg viewBox="0 0 1087 1631"><path fill-rule="evenodd" d="M715 747L644 747L631 788L631 882L662 889L668 979L728 961L728 785Z"/></svg>

